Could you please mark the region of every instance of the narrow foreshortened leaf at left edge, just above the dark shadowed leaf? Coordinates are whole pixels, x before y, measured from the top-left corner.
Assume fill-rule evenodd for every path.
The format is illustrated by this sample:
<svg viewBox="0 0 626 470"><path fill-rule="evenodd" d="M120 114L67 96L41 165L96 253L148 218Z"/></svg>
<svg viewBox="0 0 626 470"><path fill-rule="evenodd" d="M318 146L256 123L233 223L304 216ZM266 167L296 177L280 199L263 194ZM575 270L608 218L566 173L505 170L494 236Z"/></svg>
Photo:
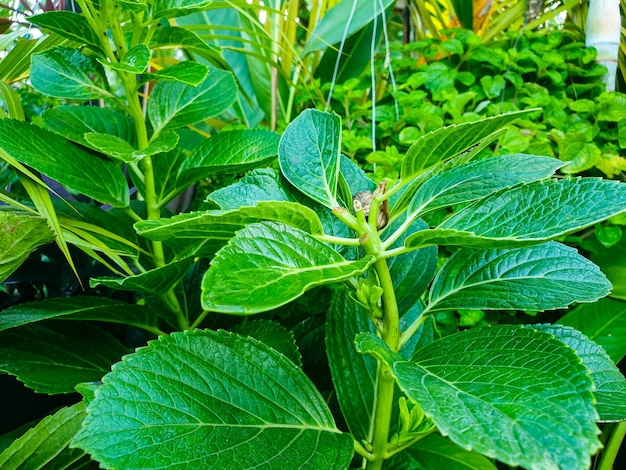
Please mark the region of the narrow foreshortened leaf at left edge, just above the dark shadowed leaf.
<svg viewBox="0 0 626 470"><path fill-rule="evenodd" d="M132 325L146 330L156 327L156 314L143 305L87 295L26 302L2 311L0 331L49 319L91 320Z"/></svg>

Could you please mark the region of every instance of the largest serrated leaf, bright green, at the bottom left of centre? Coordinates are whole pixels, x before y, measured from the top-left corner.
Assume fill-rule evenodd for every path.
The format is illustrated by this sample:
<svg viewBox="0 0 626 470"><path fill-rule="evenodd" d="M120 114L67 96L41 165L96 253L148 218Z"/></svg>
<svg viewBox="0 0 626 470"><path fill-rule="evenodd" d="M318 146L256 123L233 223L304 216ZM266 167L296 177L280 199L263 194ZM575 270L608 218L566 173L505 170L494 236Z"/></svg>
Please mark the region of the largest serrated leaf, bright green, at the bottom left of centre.
<svg viewBox="0 0 626 470"><path fill-rule="evenodd" d="M103 381L73 445L104 467L347 469L354 453L310 380L254 339L162 336Z"/></svg>

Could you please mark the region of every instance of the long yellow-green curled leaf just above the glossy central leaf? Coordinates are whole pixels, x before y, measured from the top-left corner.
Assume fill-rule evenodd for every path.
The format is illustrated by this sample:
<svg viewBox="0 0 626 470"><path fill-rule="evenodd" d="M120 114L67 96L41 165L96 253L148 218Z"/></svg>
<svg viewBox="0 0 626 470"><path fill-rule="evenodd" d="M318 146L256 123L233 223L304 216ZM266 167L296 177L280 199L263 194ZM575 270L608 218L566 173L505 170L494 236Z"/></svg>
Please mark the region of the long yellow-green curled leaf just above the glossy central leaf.
<svg viewBox="0 0 626 470"><path fill-rule="evenodd" d="M237 230L261 220L282 222L313 235L323 233L322 223L314 211L295 202L275 201L229 211L188 212L169 219L144 220L135 224L135 228L150 240L214 238L227 241Z"/></svg>

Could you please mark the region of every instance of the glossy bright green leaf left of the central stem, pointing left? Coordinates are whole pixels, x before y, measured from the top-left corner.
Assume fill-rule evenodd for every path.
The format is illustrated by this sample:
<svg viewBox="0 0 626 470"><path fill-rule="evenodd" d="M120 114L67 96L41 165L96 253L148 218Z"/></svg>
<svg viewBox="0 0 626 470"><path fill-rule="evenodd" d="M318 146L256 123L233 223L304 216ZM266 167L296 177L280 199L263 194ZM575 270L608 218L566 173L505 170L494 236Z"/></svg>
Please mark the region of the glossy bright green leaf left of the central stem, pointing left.
<svg viewBox="0 0 626 470"><path fill-rule="evenodd" d="M346 261L308 233L276 222L237 232L202 282L206 310L253 314L280 307L312 287L362 274L373 257Z"/></svg>

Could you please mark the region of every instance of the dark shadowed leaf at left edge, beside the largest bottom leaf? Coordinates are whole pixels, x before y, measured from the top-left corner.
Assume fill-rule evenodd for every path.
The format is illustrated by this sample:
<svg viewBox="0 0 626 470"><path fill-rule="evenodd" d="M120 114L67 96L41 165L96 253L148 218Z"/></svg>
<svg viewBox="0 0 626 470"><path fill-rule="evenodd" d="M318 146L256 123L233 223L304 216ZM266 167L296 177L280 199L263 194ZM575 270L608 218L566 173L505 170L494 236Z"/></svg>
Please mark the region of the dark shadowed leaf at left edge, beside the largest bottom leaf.
<svg viewBox="0 0 626 470"><path fill-rule="evenodd" d="M102 378L128 350L110 333L76 322L38 322L0 334L0 371L39 393L72 393Z"/></svg>

